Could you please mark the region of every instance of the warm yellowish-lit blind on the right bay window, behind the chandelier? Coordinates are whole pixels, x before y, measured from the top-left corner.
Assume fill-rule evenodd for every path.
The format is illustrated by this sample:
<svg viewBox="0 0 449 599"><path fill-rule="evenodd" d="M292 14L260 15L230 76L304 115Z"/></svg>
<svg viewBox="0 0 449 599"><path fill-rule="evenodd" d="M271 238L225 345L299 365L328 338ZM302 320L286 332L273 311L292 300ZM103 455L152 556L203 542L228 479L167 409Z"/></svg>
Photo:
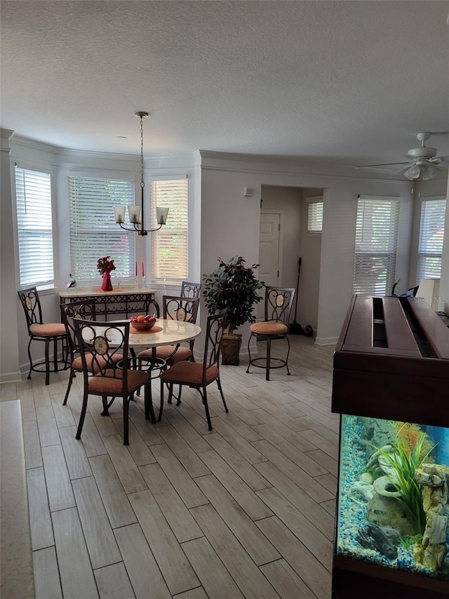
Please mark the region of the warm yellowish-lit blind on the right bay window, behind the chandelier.
<svg viewBox="0 0 449 599"><path fill-rule="evenodd" d="M182 281L189 272L187 178L152 180L152 228L157 226L156 205L169 211L166 225L152 233L152 279Z"/></svg>

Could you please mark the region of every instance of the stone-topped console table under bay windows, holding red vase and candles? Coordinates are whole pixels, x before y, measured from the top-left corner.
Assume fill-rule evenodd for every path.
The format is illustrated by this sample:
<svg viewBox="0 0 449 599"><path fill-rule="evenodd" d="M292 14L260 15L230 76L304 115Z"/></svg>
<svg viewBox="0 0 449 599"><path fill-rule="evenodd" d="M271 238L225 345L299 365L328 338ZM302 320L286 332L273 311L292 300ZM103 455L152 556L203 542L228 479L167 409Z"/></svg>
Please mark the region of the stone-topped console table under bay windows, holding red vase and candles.
<svg viewBox="0 0 449 599"><path fill-rule="evenodd" d="M64 289L58 293L61 303L94 300L95 315L104 316L105 320L108 315L113 315L116 320L118 314L124 314L128 318L135 312L140 312L140 314L155 312L159 317L159 305L155 300L156 291L154 289L129 287L128 289L102 291L100 287L93 287L93 289Z"/></svg>

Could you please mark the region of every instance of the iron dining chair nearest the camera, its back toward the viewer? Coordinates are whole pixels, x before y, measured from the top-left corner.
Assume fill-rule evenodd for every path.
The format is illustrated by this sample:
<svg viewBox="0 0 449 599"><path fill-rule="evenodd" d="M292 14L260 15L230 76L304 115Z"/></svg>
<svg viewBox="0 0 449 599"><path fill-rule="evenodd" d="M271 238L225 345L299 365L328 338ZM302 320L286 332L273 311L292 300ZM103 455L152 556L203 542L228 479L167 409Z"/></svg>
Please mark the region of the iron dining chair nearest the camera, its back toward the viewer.
<svg viewBox="0 0 449 599"><path fill-rule="evenodd" d="M103 402L102 416L109 416L109 407L116 397L123 403L123 445L129 445L128 408L135 391L145 388L145 418L156 422L145 371L129 368L129 322L95 322L74 319L76 340L83 364L83 406L79 416L76 439L81 439L89 395L99 395ZM120 362L118 357L121 355ZM108 402L108 397L112 399Z"/></svg>

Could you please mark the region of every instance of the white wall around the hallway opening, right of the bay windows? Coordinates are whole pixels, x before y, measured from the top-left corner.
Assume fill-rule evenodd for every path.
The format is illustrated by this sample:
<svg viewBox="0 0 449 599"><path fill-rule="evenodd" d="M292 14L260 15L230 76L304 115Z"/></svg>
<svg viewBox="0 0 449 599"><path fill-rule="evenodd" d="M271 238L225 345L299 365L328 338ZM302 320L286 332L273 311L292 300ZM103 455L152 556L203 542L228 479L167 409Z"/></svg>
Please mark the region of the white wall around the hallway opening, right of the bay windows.
<svg viewBox="0 0 449 599"><path fill-rule="evenodd" d="M408 181L360 178L354 169L313 167L293 160L213 152L201 156L203 272L212 270L214 254L257 260L262 185L324 189L317 343L337 341L351 299L358 195L401 197L396 278L408 279L413 216ZM252 198L243 198L245 186L254 190Z"/></svg>

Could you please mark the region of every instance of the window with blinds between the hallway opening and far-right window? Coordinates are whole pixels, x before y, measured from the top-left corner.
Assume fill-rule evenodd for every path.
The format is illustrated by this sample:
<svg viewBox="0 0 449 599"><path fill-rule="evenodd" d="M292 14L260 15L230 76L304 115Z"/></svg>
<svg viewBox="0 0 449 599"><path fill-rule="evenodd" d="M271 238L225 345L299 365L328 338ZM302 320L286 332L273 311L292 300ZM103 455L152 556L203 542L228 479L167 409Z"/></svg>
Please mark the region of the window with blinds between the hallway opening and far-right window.
<svg viewBox="0 0 449 599"><path fill-rule="evenodd" d="M358 197L354 293L384 296L391 292L398 222L397 198Z"/></svg>

